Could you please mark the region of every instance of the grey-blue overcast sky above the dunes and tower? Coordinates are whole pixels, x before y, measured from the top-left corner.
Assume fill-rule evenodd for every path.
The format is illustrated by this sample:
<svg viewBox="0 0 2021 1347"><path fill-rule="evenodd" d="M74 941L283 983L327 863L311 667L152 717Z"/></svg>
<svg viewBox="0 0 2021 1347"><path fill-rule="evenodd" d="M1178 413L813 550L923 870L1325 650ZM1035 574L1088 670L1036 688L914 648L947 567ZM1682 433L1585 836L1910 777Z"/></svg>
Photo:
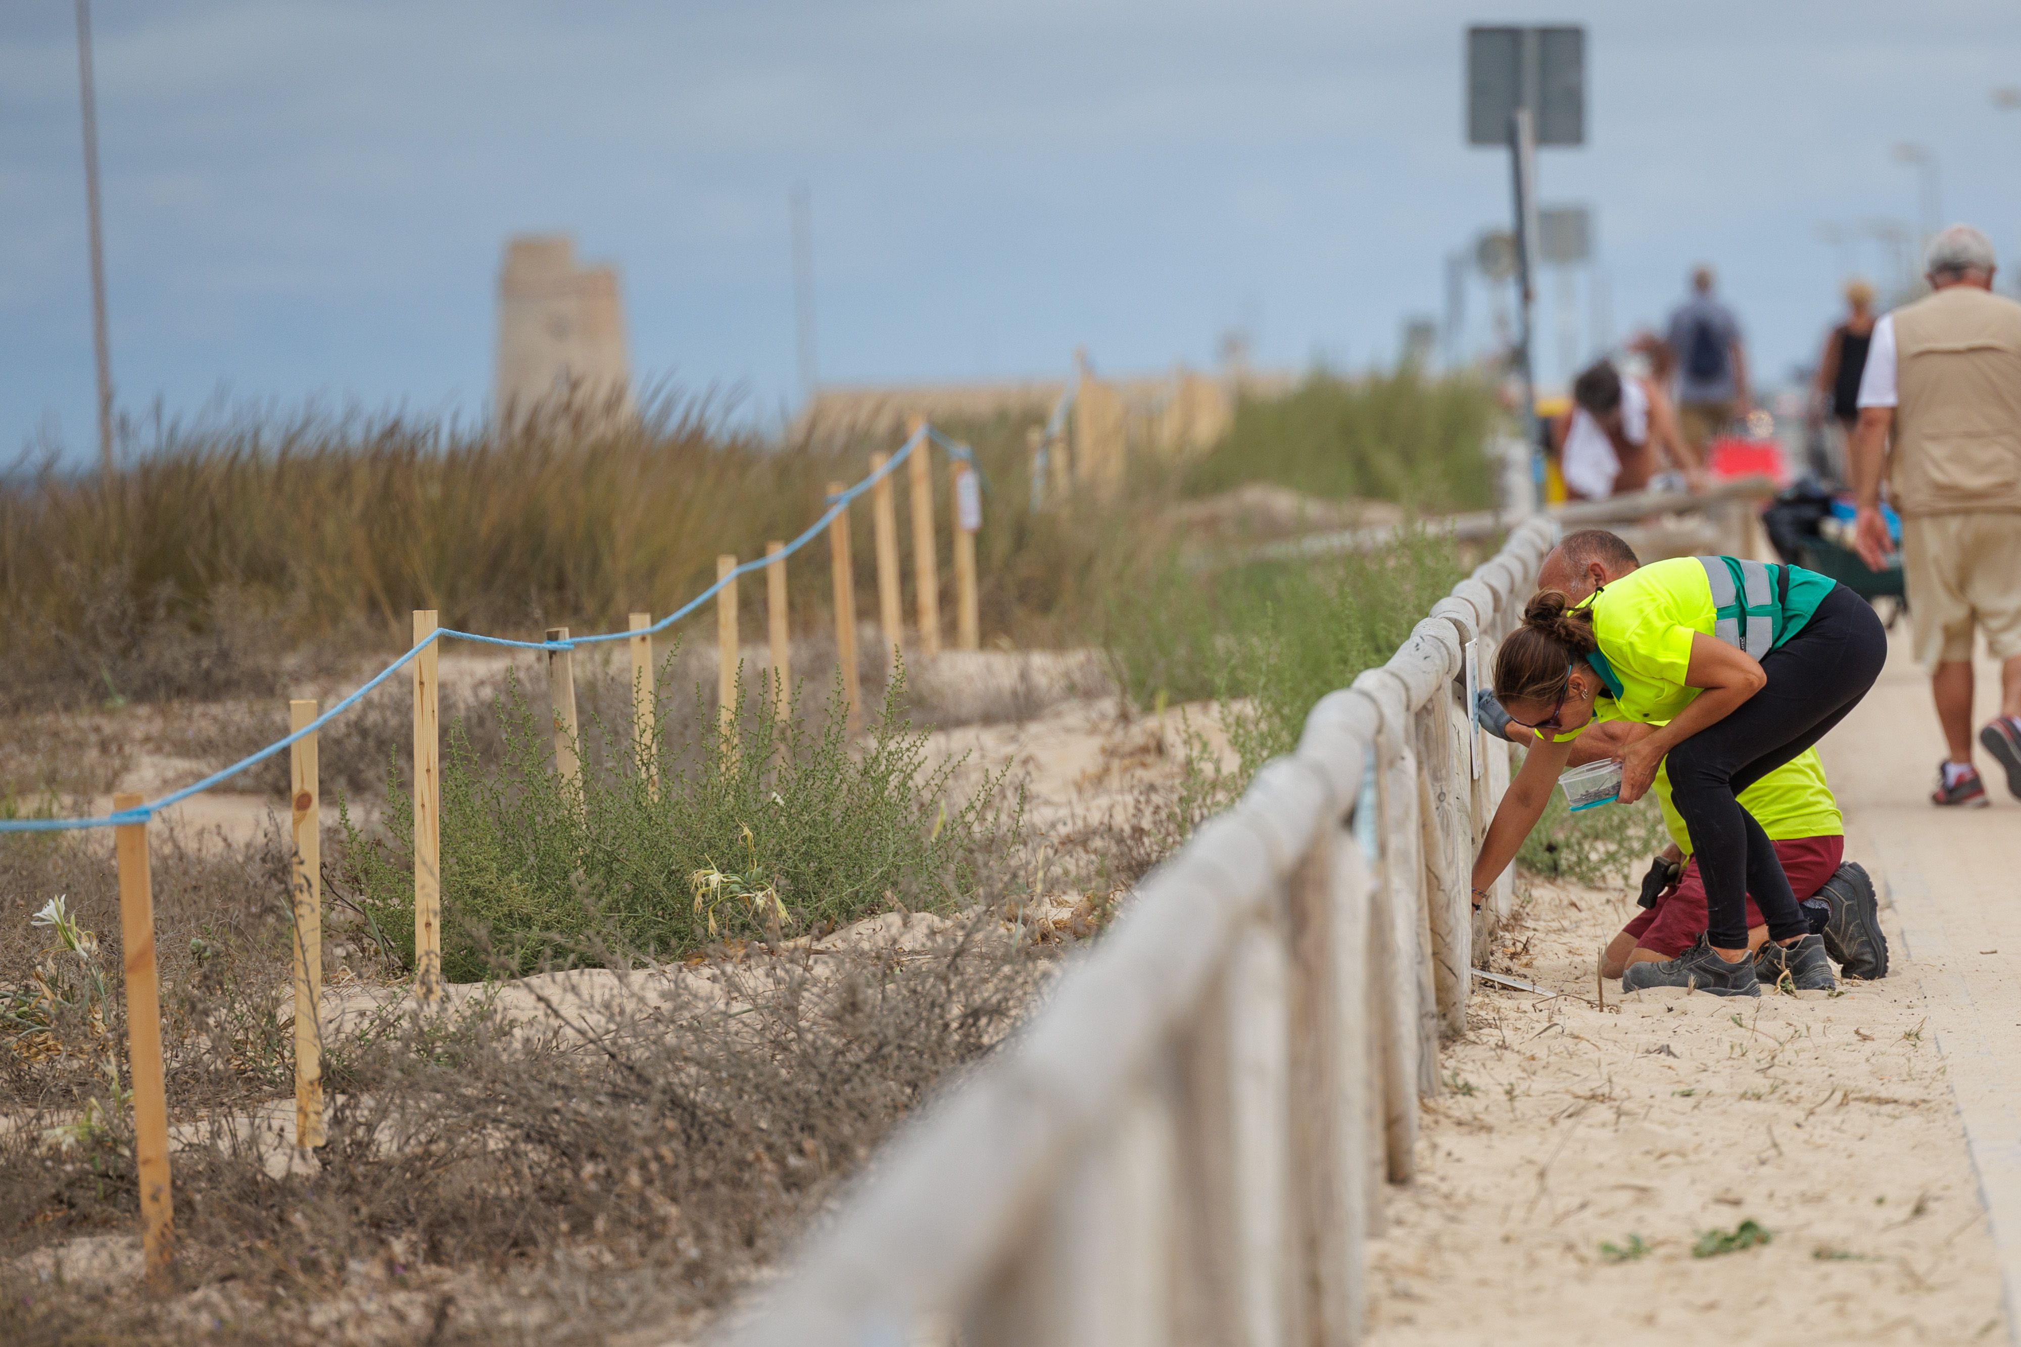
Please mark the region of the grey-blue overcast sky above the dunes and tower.
<svg viewBox="0 0 2021 1347"><path fill-rule="evenodd" d="M2021 6L1196 0L99 0L119 404L481 412L507 234L620 269L633 368L796 396L788 194L812 192L825 382L1394 355L1508 216L1461 143L1467 22L1589 26L1589 202L1615 335L1710 261L1781 374L1871 220L2021 248ZM95 442L71 6L0 10L0 454ZM1886 279L1886 277L1882 277ZM1550 281L1546 297L1554 295ZM1487 295L1469 293L1469 341ZM1576 303L1580 355L1593 305ZM1540 331L1558 374L1558 323Z"/></svg>

